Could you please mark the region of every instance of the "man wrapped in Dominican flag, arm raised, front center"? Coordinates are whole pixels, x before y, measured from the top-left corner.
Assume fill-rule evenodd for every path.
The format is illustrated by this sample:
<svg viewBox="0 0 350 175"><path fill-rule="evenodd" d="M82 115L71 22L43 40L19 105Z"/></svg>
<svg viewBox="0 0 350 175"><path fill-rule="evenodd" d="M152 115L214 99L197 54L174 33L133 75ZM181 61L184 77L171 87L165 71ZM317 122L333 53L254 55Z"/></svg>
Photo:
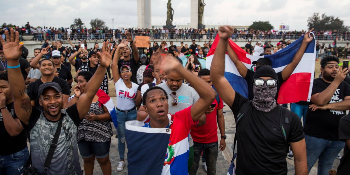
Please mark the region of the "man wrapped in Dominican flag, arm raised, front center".
<svg viewBox="0 0 350 175"><path fill-rule="evenodd" d="M174 71L187 79L198 92L199 99L175 114L168 114L168 100L176 106L179 101L186 100L184 96L172 92L168 99L166 90L160 86L150 87L144 93L142 102L151 121L144 127L131 124L136 121L126 123L129 174L188 174L190 129L198 124L216 97L216 92L208 83L184 69L172 56L163 58L161 65L161 70ZM142 121L140 123L143 124Z"/></svg>

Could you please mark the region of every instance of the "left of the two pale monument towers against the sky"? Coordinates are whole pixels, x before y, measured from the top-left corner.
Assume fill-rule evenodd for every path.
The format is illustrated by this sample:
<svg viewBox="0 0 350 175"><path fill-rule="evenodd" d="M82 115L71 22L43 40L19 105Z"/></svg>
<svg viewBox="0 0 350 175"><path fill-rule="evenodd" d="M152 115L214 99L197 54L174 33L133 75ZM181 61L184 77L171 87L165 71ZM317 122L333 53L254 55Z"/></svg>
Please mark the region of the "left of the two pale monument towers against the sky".
<svg viewBox="0 0 350 175"><path fill-rule="evenodd" d="M137 27L151 28L151 0L137 0Z"/></svg>

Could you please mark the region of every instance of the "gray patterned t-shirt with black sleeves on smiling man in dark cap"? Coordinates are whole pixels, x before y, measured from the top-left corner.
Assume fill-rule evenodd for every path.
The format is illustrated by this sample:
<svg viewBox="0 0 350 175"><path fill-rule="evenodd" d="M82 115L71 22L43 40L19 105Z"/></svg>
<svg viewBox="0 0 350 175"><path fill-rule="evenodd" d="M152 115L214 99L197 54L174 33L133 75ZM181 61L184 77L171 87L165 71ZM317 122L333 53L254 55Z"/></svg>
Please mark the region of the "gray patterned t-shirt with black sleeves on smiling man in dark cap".
<svg viewBox="0 0 350 175"><path fill-rule="evenodd" d="M68 109L62 109L61 134L59 135L57 147L50 163L47 174L81 175L82 169L79 163L77 126L80 123L77 105ZM39 174L43 172L43 165L49 152L50 145L54 139L58 121L49 121L43 112L33 106L25 129L30 133L31 164Z"/></svg>

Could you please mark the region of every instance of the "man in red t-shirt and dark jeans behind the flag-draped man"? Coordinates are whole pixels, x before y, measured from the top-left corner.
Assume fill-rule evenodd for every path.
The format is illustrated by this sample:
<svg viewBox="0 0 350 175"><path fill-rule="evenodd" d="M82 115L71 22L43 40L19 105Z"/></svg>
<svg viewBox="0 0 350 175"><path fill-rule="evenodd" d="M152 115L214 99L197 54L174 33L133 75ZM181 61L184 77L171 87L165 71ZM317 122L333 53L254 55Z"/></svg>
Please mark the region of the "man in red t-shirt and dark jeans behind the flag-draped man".
<svg viewBox="0 0 350 175"><path fill-rule="evenodd" d="M203 79L212 87L212 82L210 79L209 69L201 69L198 72L198 77ZM193 166L189 170L190 175L197 174L197 169L199 167L199 162L201 159L201 153L203 151L203 167L208 172L208 174L216 173L216 161L218 157L218 147L220 151L224 151L226 147L226 135L225 135L225 119L223 114L224 103L222 99L217 95L214 102L205 112L206 122L203 126L194 125L191 128L191 136L193 138L193 151L194 151L194 161ZM218 145L218 135L217 135L217 125L219 126L221 140Z"/></svg>

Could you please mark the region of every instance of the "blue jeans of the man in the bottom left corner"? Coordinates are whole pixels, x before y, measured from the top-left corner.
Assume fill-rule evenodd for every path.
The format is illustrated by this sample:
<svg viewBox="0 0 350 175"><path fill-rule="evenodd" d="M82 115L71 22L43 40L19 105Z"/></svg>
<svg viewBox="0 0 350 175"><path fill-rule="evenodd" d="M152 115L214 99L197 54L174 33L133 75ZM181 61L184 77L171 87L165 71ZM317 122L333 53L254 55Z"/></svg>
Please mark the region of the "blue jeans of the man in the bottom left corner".
<svg viewBox="0 0 350 175"><path fill-rule="evenodd" d="M10 155L0 155L0 174L20 175L29 158L28 147Z"/></svg>

